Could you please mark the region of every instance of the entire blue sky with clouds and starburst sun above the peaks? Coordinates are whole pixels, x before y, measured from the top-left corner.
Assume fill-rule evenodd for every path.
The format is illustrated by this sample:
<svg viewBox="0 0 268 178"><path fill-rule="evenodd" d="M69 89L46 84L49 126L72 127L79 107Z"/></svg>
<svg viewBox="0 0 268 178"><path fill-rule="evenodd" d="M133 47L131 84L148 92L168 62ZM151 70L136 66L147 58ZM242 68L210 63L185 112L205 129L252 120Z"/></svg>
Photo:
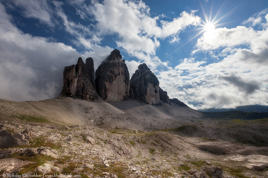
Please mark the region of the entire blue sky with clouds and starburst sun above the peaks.
<svg viewBox="0 0 268 178"><path fill-rule="evenodd" d="M64 66L114 49L193 109L268 105L267 0L0 0L0 98L60 95Z"/></svg>

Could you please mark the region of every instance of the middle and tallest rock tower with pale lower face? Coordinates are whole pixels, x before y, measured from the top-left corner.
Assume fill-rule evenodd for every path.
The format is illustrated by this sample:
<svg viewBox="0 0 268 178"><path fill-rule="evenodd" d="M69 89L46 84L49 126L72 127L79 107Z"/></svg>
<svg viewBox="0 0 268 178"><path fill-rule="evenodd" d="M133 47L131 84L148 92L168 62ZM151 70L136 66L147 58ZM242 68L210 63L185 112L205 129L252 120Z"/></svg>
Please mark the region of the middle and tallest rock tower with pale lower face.
<svg viewBox="0 0 268 178"><path fill-rule="evenodd" d="M129 98L129 72L120 51L115 49L96 70L96 89L100 98L107 102Z"/></svg>

